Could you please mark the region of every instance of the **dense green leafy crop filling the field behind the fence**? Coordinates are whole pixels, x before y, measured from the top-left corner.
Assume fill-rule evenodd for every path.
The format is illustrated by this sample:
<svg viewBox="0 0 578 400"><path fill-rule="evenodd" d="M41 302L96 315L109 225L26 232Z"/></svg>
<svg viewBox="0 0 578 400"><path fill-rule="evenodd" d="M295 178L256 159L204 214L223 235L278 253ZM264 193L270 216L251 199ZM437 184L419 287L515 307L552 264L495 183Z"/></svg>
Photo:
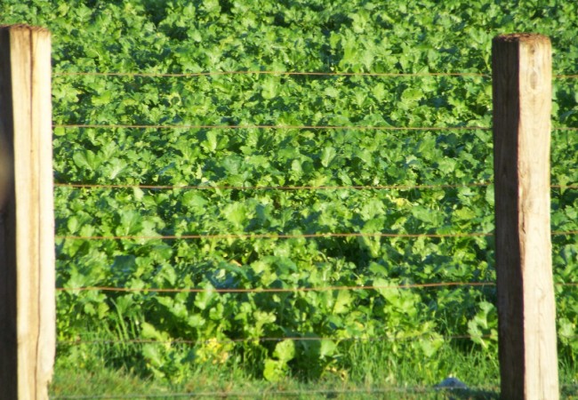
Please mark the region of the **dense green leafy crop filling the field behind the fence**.
<svg viewBox="0 0 578 400"><path fill-rule="evenodd" d="M246 70L489 74L492 37L514 31L551 36L555 73L575 74L578 7L561 0L538 3L0 1L2 23L26 22L52 30L54 124L224 126L55 129L57 182L134 185L56 188L56 234L153 237L60 238L57 285L202 289L59 292L61 342L160 341L63 344L59 360L82 368L98 368L105 360L110 366L173 381L186 381L207 364L244 365L248 373L269 381L359 374L355 371L358 360L365 357L364 344L373 342L379 351L372 357L382 357L391 369L399 360L422 360L427 374L440 367L438 356L447 348L466 355L478 352L495 361L494 287L389 288L493 281L492 239L154 238L492 232L492 186L253 188L491 181L491 132L473 128L491 124L488 78L60 74ZM577 82L555 80L554 126L578 126ZM226 127L237 124L285 128ZM291 128L295 125L472 129ZM552 191L555 231L577 229L578 196L575 189L566 188L578 182L577 148L574 132L553 132L552 183L561 185ZM136 188L139 184L204 188ZM576 236L554 236L553 255L556 282L574 282ZM380 288L218 291L329 286ZM575 363L578 292L575 286L556 290L559 352ZM472 340L449 339L460 335L471 335ZM286 337L301 340L283 340ZM314 340L319 337L325 340ZM364 365L367 371L373 368ZM439 379L428 377L431 382Z"/></svg>

